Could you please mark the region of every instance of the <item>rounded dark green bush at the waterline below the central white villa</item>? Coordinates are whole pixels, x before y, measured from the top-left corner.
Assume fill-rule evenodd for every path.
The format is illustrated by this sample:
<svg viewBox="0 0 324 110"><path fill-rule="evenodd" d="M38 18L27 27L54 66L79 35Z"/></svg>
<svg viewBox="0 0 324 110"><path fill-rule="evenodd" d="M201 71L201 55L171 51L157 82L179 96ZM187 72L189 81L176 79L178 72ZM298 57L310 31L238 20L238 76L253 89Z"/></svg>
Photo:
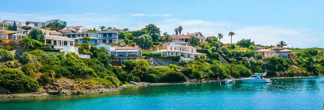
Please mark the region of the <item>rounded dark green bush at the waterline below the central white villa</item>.
<svg viewBox="0 0 324 110"><path fill-rule="evenodd" d="M161 75L160 82L185 82L186 77L179 72L176 71L168 71Z"/></svg>

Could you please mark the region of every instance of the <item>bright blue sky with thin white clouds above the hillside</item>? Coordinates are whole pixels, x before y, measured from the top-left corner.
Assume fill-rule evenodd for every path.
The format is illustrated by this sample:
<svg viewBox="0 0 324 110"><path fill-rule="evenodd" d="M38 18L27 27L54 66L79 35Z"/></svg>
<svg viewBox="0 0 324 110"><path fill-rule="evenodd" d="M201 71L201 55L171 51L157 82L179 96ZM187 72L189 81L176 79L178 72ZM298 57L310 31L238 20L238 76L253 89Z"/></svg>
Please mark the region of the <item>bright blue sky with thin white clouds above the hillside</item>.
<svg viewBox="0 0 324 110"><path fill-rule="evenodd" d="M21 3L20 5L17 3ZM324 0L1 0L0 20L61 19L82 25L140 30L155 24L161 34L201 32L224 35L221 42L251 39L255 44L286 42L294 48L324 48Z"/></svg>

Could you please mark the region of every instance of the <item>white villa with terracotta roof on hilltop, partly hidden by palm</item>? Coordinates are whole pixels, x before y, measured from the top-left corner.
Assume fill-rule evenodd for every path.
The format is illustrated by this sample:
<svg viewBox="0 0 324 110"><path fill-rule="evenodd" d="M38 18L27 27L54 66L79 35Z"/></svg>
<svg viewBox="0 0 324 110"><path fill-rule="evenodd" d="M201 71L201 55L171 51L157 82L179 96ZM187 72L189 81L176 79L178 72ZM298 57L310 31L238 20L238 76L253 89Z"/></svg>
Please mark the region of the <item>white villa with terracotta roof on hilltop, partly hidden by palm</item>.
<svg viewBox="0 0 324 110"><path fill-rule="evenodd" d="M196 36L199 39L199 42L205 42L206 38L203 36L200 36L200 34L197 33L187 33L187 35L170 35L172 42L174 44L180 44L180 45L189 45L188 39L190 36Z"/></svg>

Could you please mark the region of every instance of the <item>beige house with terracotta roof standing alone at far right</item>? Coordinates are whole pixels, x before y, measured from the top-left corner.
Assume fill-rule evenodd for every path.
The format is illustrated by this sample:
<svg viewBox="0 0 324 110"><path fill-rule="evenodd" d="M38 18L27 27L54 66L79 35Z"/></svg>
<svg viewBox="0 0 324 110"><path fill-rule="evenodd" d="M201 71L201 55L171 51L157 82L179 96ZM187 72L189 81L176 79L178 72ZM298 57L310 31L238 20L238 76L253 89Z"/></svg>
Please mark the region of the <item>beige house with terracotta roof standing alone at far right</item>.
<svg viewBox="0 0 324 110"><path fill-rule="evenodd" d="M273 47L269 49L257 50L255 51L255 54L261 54L263 58L275 56L275 57L296 59L298 52L293 52L292 50L288 50L281 47Z"/></svg>

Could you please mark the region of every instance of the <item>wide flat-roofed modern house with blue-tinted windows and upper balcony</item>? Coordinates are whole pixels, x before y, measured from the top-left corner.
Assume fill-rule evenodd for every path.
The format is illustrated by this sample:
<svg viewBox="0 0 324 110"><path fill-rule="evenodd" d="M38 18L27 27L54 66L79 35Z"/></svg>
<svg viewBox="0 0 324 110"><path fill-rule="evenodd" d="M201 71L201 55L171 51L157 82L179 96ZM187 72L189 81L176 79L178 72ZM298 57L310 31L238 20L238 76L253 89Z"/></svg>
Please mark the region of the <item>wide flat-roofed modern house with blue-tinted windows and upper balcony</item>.
<svg viewBox="0 0 324 110"><path fill-rule="evenodd" d="M94 33L66 33L64 36L72 38L76 43L83 43L83 37L90 37L89 44L119 44L117 31L97 31Z"/></svg>

